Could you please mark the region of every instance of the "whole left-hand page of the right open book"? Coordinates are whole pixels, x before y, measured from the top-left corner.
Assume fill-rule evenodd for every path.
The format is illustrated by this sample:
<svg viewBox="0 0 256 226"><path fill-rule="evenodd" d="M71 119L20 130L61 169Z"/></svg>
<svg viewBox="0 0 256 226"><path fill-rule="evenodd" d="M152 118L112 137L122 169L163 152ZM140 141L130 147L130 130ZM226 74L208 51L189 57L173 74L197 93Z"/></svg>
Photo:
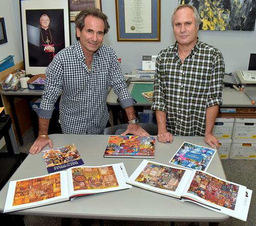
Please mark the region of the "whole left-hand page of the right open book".
<svg viewBox="0 0 256 226"><path fill-rule="evenodd" d="M126 183L160 194L181 198L193 171L143 160Z"/></svg>

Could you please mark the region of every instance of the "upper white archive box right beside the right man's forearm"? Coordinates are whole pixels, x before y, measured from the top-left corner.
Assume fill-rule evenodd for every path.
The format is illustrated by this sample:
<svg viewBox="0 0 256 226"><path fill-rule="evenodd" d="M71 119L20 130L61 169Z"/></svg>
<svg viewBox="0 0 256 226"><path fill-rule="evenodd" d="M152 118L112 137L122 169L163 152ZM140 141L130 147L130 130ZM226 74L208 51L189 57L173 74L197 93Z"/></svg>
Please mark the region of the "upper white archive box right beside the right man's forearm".
<svg viewBox="0 0 256 226"><path fill-rule="evenodd" d="M212 135L218 139L231 139L234 118L216 118Z"/></svg>

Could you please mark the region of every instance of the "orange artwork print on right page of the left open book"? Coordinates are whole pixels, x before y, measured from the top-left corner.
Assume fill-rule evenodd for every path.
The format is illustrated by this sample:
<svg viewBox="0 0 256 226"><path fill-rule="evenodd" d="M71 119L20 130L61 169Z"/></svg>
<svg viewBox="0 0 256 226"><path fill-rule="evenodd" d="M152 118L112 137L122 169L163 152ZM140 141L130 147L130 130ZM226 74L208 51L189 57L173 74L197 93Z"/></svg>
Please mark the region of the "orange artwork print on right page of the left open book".
<svg viewBox="0 0 256 226"><path fill-rule="evenodd" d="M72 168L74 191L118 187L112 166Z"/></svg>

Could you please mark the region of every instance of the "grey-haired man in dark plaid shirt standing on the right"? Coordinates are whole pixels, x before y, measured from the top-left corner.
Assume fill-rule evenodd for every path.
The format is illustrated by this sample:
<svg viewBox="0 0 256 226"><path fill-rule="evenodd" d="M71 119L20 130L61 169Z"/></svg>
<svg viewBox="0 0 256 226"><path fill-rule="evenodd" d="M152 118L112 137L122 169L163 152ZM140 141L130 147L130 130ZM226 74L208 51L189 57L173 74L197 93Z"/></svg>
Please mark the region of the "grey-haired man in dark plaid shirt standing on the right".
<svg viewBox="0 0 256 226"><path fill-rule="evenodd" d="M172 26L177 41L157 57L152 109L159 142L172 143L172 135L205 136L207 144L219 148L212 128L222 104L225 65L217 48L197 38L200 22L191 5L174 10Z"/></svg>

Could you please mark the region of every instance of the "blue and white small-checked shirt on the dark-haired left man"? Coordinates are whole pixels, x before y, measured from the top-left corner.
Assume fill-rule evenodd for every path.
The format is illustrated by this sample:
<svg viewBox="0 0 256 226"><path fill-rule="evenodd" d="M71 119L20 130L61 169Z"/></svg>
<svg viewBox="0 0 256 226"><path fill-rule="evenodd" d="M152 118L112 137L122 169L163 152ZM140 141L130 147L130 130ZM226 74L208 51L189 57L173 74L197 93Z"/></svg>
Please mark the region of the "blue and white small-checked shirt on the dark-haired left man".
<svg viewBox="0 0 256 226"><path fill-rule="evenodd" d="M106 106L109 86L125 108L136 103L122 75L115 51L104 44L93 55L91 73L77 41L60 51L46 69L46 83L40 108L41 118L51 118L61 93L59 121L63 133L99 134L109 119Z"/></svg>

